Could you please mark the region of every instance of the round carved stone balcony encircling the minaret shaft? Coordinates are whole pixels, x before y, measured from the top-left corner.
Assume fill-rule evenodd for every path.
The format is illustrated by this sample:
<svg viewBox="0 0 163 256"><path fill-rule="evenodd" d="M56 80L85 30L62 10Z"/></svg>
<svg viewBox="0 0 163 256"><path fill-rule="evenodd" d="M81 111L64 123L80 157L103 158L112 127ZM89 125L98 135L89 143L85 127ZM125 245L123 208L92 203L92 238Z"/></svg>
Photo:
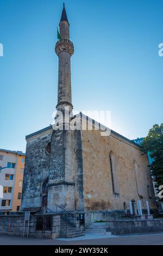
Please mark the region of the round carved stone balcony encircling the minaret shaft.
<svg viewBox="0 0 163 256"><path fill-rule="evenodd" d="M55 53L59 56L61 52L68 52L70 56L74 53L74 46L72 41L68 39L61 39L55 45Z"/></svg>

